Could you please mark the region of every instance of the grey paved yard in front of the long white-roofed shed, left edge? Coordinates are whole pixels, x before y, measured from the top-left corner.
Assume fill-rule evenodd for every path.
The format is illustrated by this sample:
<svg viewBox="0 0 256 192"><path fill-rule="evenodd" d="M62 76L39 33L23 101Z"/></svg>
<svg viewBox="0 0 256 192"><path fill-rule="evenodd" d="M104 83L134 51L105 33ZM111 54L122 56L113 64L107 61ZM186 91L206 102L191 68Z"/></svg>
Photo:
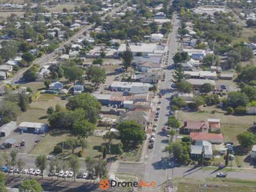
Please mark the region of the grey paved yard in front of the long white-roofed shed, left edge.
<svg viewBox="0 0 256 192"><path fill-rule="evenodd" d="M1 151L10 152L11 150L15 149L20 153L29 154L29 152L31 152L31 150L35 147L35 145L38 142L40 142L40 140L43 138L43 136L44 136L44 134L32 134L32 133L26 133L26 132L23 132L22 134L20 134L19 131L12 132L10 134L10 136L8 136L8 137L0 138L0 145L2 145L4 143L4 141L6 141L10 138L15 140L15 143L13 144L13 146L11 148L6 148ZM20 146L20 143L22 140L25 141L24 146Z"/></svg>

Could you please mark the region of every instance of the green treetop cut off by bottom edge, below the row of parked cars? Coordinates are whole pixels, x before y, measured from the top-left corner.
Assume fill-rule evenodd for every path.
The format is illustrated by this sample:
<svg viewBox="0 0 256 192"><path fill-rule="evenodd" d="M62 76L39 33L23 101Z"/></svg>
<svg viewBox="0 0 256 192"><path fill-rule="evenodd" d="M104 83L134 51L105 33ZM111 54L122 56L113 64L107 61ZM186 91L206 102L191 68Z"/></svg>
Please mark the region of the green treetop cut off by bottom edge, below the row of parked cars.
<svg viewBox="0 0 256 192"><path fill-rule="evenodd" d="M42 186L35 180L24 180L20 182L19 192L43 192Z"/></svg>

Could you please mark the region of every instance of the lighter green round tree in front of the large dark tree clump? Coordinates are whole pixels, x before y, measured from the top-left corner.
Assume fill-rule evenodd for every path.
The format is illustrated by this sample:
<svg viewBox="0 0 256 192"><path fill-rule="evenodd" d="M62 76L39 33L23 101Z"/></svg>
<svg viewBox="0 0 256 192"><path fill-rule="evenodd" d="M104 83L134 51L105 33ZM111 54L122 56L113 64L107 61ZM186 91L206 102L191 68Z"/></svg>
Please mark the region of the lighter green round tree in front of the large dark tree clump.
<svg viewBox="0 0 256 192"><path fill-rule="evenodd" d="M78 139L88 138L88 136L91 136L93 134L94 130L95 124L92 124L87 120L82 120L74 124L72 134L76 136Z"/></svg>

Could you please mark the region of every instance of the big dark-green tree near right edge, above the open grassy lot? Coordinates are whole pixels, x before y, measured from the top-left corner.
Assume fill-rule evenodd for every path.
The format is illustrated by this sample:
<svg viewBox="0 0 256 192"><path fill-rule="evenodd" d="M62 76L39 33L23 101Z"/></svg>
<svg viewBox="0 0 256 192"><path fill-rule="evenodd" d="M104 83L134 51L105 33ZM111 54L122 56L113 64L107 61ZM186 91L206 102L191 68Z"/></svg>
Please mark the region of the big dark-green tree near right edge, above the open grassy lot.
<svg viewBox="0 0 256 192"><path fill-rule="evenodd" d="M232 108L237 108L238 106L246 106L248 103L248 97L244 93L240 92L229 92L228 93L228 105Z"/></svg>

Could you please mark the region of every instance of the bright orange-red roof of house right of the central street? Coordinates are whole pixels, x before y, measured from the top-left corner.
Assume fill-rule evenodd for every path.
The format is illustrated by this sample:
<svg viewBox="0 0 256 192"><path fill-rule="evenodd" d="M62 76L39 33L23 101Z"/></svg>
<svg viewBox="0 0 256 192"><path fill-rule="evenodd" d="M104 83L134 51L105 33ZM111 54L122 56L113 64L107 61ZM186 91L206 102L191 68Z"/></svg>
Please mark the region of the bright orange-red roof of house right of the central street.
<svg viewBox="0 0 256 192"><path fill-rule="evenodd" d="M210 143L223 143L223 134L215 134L208 132L190 132L191 141L208 141Z"/></svg>

